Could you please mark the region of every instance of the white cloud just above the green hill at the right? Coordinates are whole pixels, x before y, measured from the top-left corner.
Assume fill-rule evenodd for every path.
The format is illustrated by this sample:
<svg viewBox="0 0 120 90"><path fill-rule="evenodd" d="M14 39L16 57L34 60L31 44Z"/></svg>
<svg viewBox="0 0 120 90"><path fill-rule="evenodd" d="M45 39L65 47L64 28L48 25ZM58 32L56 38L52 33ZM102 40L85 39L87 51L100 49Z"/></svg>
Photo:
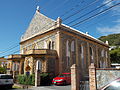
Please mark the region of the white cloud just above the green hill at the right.
<svg viewBox="0 0 120 90"><path fill-rule="evenodd" d="M99 31L103 35L108 35L112 33L120 33L120 24L117 24L113 27L98 27L97 31Z"/></svg>

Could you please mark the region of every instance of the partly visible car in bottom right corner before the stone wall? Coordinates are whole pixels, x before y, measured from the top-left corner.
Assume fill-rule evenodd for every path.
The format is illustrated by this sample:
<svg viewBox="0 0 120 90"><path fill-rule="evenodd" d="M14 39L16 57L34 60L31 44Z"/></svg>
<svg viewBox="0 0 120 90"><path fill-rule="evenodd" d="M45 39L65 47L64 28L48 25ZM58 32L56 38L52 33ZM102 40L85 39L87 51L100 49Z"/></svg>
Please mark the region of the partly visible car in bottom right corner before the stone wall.
<svg viewBox="0 0 120 90"><path fill-rule="evenodd" d="M105 85L99 90L120 90L120 78L112 81L111 83Z"/></svg>

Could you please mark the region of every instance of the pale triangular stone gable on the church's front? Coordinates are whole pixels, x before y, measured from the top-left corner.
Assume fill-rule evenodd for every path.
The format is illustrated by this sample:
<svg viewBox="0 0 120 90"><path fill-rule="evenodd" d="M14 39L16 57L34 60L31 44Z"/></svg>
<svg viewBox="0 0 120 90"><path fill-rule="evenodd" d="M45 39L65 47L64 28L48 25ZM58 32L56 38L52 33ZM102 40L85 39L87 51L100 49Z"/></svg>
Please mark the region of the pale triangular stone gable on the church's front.
<svg viewBox="0 0 120 90"><path fill-rule="evenodd" d="M55 25L55 22L55 20L44 16L38 10L36 10L36 13L33 16L33 19L31 20L28 29L21 37L21 41L25 41L38 34L46 32L51 26Z"/></svg>

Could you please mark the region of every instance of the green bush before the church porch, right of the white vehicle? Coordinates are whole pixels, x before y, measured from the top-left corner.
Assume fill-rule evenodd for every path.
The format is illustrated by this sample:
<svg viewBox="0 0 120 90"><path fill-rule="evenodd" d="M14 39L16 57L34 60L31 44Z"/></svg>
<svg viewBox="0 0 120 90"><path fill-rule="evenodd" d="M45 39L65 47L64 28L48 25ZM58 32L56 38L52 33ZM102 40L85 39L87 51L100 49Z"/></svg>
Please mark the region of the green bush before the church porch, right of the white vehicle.
<svg viewBox="0 0 120 90"><path fill-rule="evenodd" d="M35 75L18 75L17 82L24 85L34 85L35 84Z"/></svg>

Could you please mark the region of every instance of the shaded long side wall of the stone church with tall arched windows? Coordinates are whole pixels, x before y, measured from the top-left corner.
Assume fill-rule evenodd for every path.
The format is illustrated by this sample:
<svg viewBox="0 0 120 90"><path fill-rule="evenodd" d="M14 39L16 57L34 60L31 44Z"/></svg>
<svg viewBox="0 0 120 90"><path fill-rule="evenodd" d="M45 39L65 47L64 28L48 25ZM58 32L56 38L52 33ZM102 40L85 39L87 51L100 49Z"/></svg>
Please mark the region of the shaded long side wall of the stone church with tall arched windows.
<svg viewBox="0 0 120 90"><path fill-rule="evenodd" d="M84 39L85 38L81 36L76 38L74 34L69 35L68 33L61 33L63 72L70 72L71 65L75 63L79 67L81 76L85 77L88 76L88 66L92 62L95 63L96 67L108 67L107 62L109 57L106 55L108 48L94 41ZM71 50L72 41L74 41L74 52ZM66 51L67 42L69 47L68 51L70 52L69 57L67 56L69 52ZM104 55L101 56L102 50Z"/></svg>

